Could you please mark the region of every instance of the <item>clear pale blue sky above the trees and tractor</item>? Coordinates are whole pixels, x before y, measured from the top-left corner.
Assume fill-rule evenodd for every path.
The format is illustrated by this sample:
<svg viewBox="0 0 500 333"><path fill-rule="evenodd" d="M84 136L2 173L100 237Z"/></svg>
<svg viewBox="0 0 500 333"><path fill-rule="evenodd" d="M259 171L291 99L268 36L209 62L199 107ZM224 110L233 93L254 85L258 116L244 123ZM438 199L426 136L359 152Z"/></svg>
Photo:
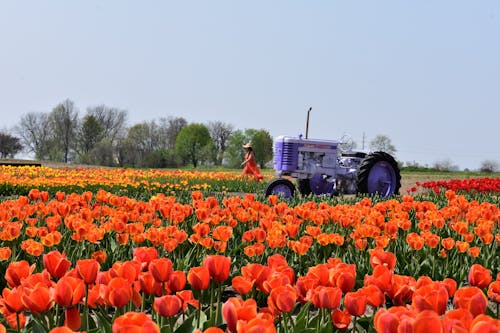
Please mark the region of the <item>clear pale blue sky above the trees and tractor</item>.
<svg viewBox="0 0 500 333"><path fill-rule="evenodd" d="M498 0L0 0L0 130L70 99L128 124L377 135L395 158L500 163Z"/></svg>

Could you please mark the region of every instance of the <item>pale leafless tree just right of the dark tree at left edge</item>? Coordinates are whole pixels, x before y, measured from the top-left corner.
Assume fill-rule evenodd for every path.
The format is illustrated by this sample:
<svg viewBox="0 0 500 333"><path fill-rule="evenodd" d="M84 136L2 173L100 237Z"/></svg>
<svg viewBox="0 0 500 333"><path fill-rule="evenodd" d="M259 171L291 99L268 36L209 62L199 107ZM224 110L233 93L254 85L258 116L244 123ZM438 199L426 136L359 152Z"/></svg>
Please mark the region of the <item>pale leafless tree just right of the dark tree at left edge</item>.
<svg viewBox="0 0 500 333"><path fill-rule="evenodd" d="M35 158L45 161L49 157L50 126L49 115L43 112L30 112L21 116L19 125L14 131L21 138L27 152L35 154Z"/></svg>

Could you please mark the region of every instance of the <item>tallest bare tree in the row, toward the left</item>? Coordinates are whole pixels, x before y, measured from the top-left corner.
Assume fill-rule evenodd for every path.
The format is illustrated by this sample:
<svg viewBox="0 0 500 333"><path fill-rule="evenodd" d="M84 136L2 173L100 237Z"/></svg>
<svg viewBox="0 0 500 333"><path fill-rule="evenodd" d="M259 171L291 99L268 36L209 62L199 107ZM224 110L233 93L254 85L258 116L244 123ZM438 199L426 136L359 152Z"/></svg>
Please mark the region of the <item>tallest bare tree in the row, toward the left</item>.
<svg viewBox="0 0 500 333"><path fill-rule="evenodd" d="M73 101L66 99L58 104L49 115L52 130L51 155L56 160L69 162L70 153L76 143L76 129L78 126L78 111Z"/></svg>

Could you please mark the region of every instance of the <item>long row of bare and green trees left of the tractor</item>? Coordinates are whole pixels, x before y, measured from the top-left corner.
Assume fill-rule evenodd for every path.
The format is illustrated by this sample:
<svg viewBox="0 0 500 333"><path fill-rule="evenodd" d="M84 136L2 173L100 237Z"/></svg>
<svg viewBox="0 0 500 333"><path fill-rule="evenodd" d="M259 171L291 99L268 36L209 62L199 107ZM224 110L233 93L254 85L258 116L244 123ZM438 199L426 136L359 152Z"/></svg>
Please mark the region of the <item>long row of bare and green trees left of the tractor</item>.
<svg viewBox="0 0 500 333"><path fill-rule="evenodd" d="M265 129L235 129L221 121L188 123L168 116L127 125L126 110L99 105L80 117L66 99L51 112L29 112L12 129L0 132L0 156L21 151L40 161L167 168L201 165L238 167L242 145L252 142L257 163L272 160L273 139Z"/></svg>

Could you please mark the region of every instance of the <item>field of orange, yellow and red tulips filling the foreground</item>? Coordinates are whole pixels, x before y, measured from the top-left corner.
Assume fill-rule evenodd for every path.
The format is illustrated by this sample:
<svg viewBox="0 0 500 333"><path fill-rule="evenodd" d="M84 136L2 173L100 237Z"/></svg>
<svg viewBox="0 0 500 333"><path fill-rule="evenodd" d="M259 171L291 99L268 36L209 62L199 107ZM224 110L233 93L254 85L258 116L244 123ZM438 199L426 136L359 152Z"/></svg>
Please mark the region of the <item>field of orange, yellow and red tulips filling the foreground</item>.
<svg viewBox="0 0 500 333"><path fill-rule="evenodd" d="M271 177L0 166L0 333L500 331L500 178Z"/></svg>

